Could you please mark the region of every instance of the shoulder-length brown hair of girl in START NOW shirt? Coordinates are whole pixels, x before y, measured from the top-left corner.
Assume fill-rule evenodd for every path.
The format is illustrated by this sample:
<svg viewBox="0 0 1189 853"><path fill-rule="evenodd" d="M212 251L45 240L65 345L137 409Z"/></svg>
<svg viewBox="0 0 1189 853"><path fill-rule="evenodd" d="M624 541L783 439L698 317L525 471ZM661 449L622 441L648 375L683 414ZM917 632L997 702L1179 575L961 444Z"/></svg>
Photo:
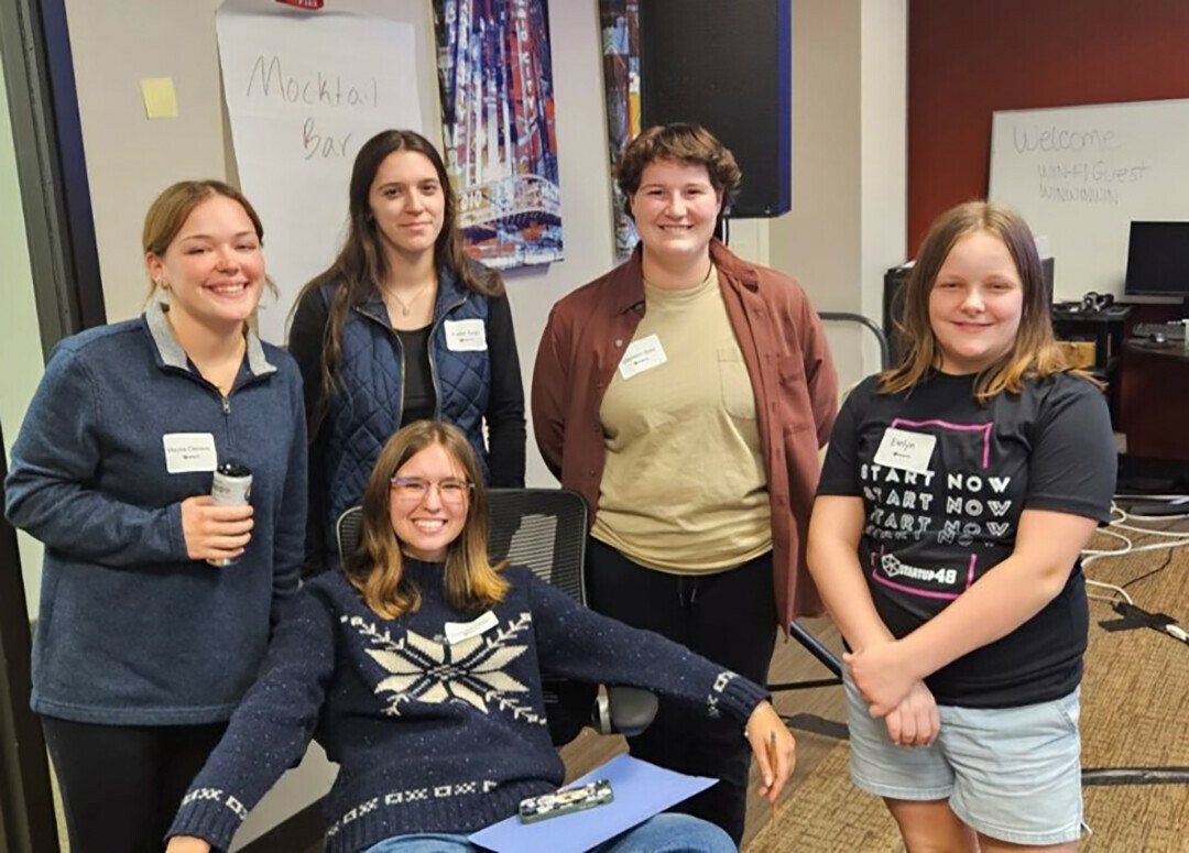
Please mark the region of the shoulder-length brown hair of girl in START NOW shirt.
<svg viewBox="0 0 1189 853"><path fill-rule="evenodd" d="M905 291L904 317L899 321L905 350L900 364L880 374L880 391L911 391L931 371L940 367L942 353L929 322L929 297L937 274L961 238L986 232L1002 240L1015 263L1024 288L1020 326L1012 349L983 368L975 380L975 397L989 403L996 394L1020 393L1026 378L1043 379L1055 373L1088 374L1070 366L1052 335L1050 302L1036 239L1024 219L1009 207L986 201L958 204L937 217L917 254Z"/></svg>

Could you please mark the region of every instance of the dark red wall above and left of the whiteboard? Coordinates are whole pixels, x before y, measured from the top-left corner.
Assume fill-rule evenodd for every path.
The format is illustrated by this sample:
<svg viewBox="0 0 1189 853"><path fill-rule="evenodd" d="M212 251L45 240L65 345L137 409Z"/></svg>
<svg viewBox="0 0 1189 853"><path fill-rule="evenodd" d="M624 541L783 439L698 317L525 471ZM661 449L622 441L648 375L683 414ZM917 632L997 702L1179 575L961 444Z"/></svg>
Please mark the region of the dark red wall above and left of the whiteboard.
<svg viewBox="0 0 1189 853"><path fill-rule="evenodd" d="M1187 39L1184 0L908 0L910 251L986 196L994 110L1189 97Z"/></svg>

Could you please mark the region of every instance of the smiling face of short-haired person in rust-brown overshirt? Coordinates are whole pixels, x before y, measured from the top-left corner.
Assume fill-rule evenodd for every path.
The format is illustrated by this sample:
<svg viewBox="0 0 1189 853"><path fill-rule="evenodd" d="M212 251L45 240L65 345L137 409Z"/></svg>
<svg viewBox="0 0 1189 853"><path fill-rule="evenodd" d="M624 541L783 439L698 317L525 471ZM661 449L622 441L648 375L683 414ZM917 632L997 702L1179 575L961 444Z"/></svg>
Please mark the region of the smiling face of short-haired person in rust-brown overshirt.
<svg viewBox="0 0 1189 853"><path fill-rule="evenodd" d="M646 255L669 267L688 267L709 258L722 202L704 165L669 159L649 163L631 196L631 215Z"/></svg>

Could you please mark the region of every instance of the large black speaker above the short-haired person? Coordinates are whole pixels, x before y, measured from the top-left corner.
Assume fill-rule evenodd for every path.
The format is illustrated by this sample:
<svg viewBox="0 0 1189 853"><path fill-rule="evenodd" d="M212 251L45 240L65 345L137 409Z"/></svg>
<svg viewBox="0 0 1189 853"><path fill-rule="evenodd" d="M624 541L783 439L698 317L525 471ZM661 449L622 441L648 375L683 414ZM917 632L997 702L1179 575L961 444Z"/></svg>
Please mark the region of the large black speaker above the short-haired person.
<svg viewBox="0 0 1189 853"><path fill-rule="evenodd" d="M734 219L792 208L791 0L640 0L644 127L692 121L743 170Z"/></svg>

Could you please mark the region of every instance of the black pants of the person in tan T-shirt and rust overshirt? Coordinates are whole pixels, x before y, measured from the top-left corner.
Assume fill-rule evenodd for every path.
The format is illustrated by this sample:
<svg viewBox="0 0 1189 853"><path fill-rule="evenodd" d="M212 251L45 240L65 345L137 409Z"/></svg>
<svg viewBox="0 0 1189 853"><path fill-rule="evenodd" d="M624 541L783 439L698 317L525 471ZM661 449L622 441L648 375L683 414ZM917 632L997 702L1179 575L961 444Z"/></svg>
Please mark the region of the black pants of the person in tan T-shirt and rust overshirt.
<svg viewBox="0 0 1189 853"><path fill-rule="evenodd" d="M770 551L728 571L669 575L589 539L586 590L599 613L655 631L757 684L768 678L776 642ZM661 699L656 720L628 744L646 762L721 779L673 811L716 823L738 845L751 748L737 721L711 720L702 708Z"/></svg>

